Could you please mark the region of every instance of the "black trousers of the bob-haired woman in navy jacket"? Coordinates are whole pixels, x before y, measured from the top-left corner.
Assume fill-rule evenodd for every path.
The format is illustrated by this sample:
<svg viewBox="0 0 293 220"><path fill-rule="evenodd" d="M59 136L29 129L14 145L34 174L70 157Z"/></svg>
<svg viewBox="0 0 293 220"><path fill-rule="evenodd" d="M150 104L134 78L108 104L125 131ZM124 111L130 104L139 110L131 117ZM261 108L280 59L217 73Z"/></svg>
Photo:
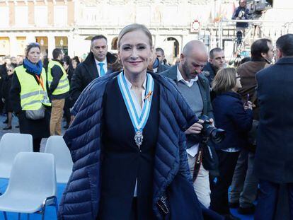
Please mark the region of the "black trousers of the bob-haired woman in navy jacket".
<svg viewBox="0 0 293 220"><path fill-rule="evenodd" d="M230 214L228 189L232 183L239 152L217 151L219 157L219 178L211 188L210 208L219 214Z"/></svg>

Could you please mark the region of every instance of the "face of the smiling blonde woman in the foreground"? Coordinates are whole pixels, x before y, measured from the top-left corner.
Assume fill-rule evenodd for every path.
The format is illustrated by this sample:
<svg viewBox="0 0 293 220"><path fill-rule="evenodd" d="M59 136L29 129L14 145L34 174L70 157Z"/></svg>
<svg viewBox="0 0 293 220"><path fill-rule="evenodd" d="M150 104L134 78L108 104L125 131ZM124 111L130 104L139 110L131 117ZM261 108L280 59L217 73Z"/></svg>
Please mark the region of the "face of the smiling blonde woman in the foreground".
<svg viewBox="0 0 293 220"><path fill-rule="evenodd" d="M142 30L126 33L121 38L118 56L127 74L146 72L151 55L149 37Z"/></svg>

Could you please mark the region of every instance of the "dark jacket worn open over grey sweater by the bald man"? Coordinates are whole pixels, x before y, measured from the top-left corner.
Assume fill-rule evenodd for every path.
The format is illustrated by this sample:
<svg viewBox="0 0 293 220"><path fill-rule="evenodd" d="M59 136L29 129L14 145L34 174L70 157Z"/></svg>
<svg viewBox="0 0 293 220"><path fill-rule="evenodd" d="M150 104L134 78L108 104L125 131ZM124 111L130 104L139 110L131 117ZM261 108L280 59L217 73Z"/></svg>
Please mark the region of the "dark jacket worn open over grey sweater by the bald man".
<svg viewBox="0 0 293 220"><path fill-rule="evenodd" d="M172 79L177 84L177 66L178 65L172 66L171 69L163 71L161 75ZM209 81L203 74L198 75L198 86L200 87L200 93L202 94L202 102L204 105L202 114L207 115L209 118L214 118L212 113L212 103L209 96Z"/></svg>

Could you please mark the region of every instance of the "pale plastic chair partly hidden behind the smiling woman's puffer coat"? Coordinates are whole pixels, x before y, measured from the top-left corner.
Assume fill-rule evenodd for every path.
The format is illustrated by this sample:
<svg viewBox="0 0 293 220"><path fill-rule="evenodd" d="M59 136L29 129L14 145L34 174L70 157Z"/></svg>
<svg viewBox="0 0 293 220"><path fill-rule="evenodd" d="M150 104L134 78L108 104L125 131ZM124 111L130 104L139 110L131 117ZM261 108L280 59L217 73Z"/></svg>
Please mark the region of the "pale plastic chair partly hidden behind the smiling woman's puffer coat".
<svg viewBox="0 0 293 220"><path fill-rule="evenodd" d="M72 172L73 162L63 137L49 137L45 153L53 154L55 157L57 183L67 183Z"/></svg>

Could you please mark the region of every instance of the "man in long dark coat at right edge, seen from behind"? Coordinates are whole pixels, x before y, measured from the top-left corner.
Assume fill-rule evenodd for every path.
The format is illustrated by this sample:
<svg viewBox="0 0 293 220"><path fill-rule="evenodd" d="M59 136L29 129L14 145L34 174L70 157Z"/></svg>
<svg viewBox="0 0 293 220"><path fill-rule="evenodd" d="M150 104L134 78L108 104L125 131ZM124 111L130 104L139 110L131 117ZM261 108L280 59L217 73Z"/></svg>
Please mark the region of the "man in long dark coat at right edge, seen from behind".
<svg viewBox="0 0 293 220"><path fill-rule="evenodd" d="M255 220L274 218L282 183L293 219L293 34L279 37L276 47L277 63L256 74L260 122L254 172L260 178L260 195Z"/></svg>

